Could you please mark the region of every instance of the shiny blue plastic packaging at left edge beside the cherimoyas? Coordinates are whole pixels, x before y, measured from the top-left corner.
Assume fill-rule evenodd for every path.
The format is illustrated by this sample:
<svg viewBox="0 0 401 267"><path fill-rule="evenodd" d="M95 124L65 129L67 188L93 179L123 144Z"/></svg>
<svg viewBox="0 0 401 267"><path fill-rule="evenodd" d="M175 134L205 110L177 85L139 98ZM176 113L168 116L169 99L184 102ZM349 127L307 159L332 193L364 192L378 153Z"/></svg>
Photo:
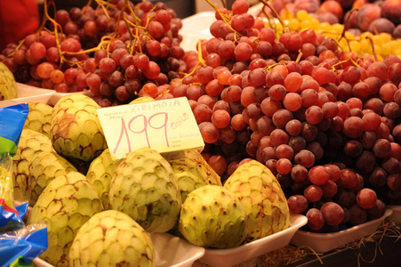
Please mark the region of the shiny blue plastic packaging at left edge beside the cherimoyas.
<svg viewBox="0 0 401 267"><path fill-rule="evenodd" d="M47 249L47 228L25 225L28 202L14 205L12 156L29 112L28 104L14 103L0 108L0 266L29 266Z"/></svg>

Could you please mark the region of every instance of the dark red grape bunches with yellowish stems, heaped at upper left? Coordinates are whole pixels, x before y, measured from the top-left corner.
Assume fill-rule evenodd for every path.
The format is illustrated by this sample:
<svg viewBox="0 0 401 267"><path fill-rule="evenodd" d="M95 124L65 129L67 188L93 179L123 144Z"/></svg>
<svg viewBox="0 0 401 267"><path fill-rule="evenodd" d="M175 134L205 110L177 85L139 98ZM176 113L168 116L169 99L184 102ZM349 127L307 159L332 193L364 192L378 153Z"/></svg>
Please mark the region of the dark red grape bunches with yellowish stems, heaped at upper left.
<svg viewBox="0 0 401 267"><path fill-rule="evenodd" d="M46 12L47 28L9 44L0 60L17 82L59 93L89 89L106 107L132 101L147 84L156 97L154 85L188 71L175 11L162 2L96 3L57 10L54 18Z"/></svg>

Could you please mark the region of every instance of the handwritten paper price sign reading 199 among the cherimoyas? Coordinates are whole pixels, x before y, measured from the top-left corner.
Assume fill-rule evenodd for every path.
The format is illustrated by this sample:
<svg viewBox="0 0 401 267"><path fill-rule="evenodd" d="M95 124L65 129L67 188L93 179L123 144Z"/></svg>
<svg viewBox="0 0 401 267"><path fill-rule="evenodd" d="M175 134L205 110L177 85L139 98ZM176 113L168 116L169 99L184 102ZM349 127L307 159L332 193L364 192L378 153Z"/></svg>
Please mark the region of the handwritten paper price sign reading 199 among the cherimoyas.
<svg viewBox="0 0 401 267"><path fill-rule="evenodd" d="M205 146L185 97L98 109L113 158L148 147L159 153Z"/></svg>

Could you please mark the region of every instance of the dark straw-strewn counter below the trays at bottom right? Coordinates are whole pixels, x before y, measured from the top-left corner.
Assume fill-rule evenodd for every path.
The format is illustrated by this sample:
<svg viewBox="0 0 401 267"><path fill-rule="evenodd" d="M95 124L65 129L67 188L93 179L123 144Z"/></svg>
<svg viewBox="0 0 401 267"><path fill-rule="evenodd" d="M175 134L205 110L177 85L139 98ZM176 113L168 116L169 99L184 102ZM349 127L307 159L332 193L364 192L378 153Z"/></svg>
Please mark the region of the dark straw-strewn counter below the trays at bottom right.
<svg viewBox="0 0 401 267"><path fill-rule="evenodd" d="M318 266L398 266L397 258L401 248L399 239L401 224L385 219L379 227L363 238L355 239L341 246L320 252L319 245L330 246L330 241L315 241L313 244L305 243L304 246L290 244L278 248L267 254L249 259L236 267L318 267ZM291 241L293 243L293 240ZM309 247L308 245L311 245ZM315 247L317 250L313 249ZM323 249L325 250L325 249ZM196 261L192 267L209 267L201 261Z"/></svg>

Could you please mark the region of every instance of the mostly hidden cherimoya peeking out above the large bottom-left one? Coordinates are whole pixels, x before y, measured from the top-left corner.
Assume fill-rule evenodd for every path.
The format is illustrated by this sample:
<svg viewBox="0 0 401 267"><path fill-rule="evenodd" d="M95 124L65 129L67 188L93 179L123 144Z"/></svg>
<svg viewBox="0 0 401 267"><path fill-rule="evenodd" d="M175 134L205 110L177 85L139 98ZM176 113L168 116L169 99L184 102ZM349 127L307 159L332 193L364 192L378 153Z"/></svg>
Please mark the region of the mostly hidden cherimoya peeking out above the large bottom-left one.
<svg viewBox="0 0 401 267"><path fill-rule="evenodd" d="M55 151L42 151L36 154L29 166L26 197L29 205L35 206L37 198L54 178L77 171L76 167Z"/></svg>

